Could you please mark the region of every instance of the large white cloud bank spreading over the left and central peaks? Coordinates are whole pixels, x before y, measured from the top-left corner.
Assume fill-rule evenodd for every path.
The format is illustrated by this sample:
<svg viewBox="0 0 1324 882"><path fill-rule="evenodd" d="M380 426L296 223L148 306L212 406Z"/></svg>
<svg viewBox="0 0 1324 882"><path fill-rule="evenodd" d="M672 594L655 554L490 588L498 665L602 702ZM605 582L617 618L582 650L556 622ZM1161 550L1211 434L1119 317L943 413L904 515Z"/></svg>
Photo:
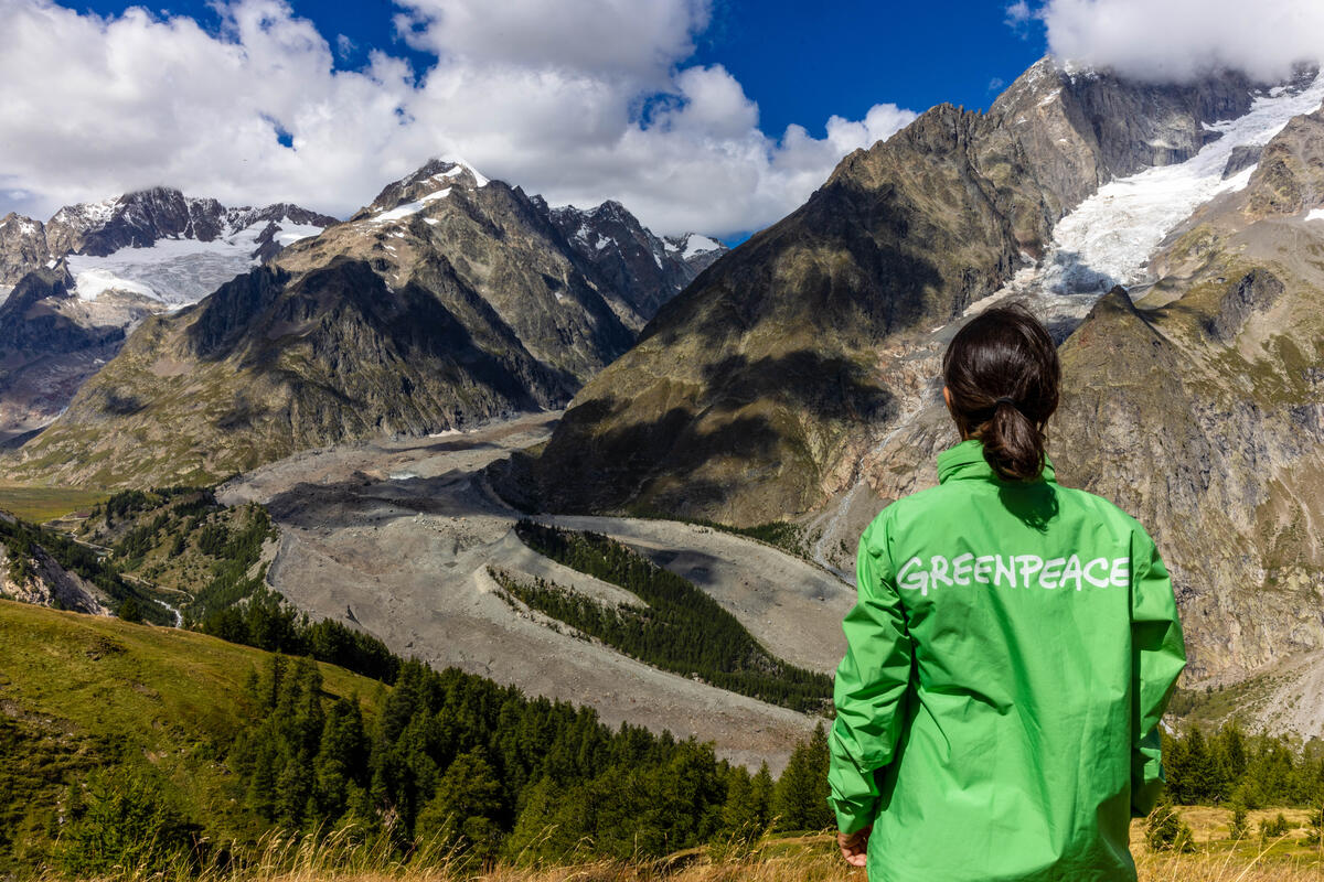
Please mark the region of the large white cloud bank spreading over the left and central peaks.
<svg viewBox="0 0 1324 882"><path fill-rule="evenodd" d="M409 42L438 57L426 71L383 53L338 71L282 0L217 7L220 34L136 8L102 19L0 0L0 193L23 193L0 213L168 184L344 216L458 153L553 204L616 198L659 231L727 235L776 221L845 153L914 119L878 104L830 118L825 138L769 138L726 69L682 63L707 25L702 0L399 7Z"/></svg>

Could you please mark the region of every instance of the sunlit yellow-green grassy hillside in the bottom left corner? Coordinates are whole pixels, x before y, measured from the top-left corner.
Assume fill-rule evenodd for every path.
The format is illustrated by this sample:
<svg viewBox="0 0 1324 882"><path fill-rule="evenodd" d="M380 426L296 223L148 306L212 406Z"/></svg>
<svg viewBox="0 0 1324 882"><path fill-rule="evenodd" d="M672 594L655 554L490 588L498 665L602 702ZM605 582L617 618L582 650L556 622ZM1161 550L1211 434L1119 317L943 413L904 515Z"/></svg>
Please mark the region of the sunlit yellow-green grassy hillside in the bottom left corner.
<svg viewBox="0 0 1324 882"><path fill-rule="evenodd" d="M262 825L218 762L246 718L245 680L267 653L173 628L0 600L0 875L37 863L58 833L69 784L95 768L138 770L213 841ZM381 685L322 665L323 693Z"/></svg>

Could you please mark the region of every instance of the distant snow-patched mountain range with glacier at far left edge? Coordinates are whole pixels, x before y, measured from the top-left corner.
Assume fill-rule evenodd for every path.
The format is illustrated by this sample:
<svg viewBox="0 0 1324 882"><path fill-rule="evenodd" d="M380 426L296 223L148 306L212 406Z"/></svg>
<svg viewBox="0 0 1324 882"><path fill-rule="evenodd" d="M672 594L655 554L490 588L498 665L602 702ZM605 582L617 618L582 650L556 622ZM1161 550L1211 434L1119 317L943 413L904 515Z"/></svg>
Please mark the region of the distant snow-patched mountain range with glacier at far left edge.
<svg viewBox="0 0 1324 882"><path fill-rule="evenodd" d="M0 221L0 438L48 424L138 324L203 298L335 218L155 188Z"/></svg>

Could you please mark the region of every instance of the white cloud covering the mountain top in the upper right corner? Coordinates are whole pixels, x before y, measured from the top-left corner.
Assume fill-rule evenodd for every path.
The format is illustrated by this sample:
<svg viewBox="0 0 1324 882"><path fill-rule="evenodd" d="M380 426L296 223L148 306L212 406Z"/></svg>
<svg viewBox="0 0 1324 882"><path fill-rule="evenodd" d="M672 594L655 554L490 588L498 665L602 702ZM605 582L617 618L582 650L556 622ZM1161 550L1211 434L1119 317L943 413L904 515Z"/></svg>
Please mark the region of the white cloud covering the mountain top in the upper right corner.
<svg viewBox="0 0 1324 882"><path fill-rule="evenodd" d="M1278 81L1324 56L1320 0L1049 0L1034 15L1054 54L1161 82L1226 67Z"/></svg>

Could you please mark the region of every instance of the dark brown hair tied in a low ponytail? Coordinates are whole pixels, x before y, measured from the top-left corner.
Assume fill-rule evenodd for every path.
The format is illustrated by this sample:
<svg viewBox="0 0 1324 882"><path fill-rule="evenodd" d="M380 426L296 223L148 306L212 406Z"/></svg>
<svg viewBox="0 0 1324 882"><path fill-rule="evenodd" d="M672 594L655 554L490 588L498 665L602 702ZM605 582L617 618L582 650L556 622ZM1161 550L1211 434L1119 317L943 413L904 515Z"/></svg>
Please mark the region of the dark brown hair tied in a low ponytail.
<svg viewBox="0 0 1324 882"><path fill-rule="evenodd" d="M984 459L1009 481L1033 481L1043 472L1043 426L1058 409L1061 380L1053 337L1021 304L985 309L943 356L961 436L984 442Z"/></svg>

